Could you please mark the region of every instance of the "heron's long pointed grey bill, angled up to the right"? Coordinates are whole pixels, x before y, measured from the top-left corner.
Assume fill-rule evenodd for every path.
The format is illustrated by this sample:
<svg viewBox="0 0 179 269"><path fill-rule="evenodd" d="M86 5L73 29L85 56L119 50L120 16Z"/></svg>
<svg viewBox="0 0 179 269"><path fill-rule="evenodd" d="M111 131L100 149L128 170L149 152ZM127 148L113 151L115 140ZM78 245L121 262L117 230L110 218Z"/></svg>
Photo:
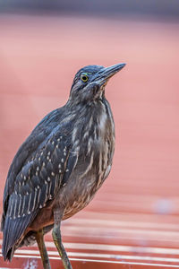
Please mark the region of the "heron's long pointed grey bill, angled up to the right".
<svg viewBox="0 0 179 269"><path fill-rule="evenodd" d="M117 72L119 72L122 68L124 68L125 64L117 64L108 67L104 67L101 69L97 76L95 77L95 81L98 82L101 86L106 84L107 81Z"/></svg>

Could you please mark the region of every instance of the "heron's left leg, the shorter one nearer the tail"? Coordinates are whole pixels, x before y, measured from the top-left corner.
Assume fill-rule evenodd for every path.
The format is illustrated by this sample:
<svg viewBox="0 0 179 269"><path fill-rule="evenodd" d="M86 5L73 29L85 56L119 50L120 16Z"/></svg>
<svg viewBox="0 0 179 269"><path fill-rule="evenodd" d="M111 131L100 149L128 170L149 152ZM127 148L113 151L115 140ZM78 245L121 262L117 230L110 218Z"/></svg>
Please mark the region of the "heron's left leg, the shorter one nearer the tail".
<svg viewBox="0 0 179 269"><path fill-rule="evenodd" d="M44 242L44 233L42 229L37 231L36 240L38 243L39 253L42 258L44 269L51 269L50 262L47 256L47 248Z"/></svg>

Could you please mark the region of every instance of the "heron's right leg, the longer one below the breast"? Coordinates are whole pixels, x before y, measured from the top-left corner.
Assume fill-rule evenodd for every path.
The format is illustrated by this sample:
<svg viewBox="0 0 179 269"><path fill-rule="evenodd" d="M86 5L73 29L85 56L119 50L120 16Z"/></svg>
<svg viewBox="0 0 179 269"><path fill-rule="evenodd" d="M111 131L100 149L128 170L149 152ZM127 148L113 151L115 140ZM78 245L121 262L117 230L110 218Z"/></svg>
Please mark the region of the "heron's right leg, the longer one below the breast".
<svg viewBox="0 0 179 269"><path fill-rule="evenodd" d="M63 214L59 210L54 212L54 229L52 231L52 236L55 242L55 247L57 248L58 253L62 258L64 269L72 269L72 265L65 252L65 249L62 243L62 238L61 238L60 224L61 224L62 216Z"/></svg>

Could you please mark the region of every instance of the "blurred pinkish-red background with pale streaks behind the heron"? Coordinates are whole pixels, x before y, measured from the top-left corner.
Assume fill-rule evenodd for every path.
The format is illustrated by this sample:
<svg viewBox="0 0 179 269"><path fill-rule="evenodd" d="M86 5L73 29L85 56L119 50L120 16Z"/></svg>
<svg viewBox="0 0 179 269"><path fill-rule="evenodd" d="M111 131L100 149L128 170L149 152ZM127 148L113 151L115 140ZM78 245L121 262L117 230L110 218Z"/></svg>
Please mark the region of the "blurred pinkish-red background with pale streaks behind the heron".
<svg viewBox="0 0 179 269"><path fill-rule="evenodd" d="M64 246L74 268L179 267L175 0L0 2L0 213L15 152L41 117L64 105L73 75L120 62L127 65L107 84L113 169L90 205L64 221ZM0 267L41 268L37 246L18 250L11 264L0 253Z"/></svg>

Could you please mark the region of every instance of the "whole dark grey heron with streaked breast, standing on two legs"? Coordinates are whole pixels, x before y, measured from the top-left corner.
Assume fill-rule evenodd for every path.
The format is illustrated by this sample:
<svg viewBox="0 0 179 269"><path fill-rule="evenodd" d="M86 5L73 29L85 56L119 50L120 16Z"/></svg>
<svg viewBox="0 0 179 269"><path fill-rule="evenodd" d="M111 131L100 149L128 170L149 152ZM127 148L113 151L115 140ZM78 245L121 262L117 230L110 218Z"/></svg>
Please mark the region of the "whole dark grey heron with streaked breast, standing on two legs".
<svg viewBox="0 0 179 269"><path fill-rule="evenodd" d="M82 67L66 104L48 113L21 144L4 186L4 260L37 242L43 267L50 269L44 235L52 230L64 268L72 269L61 222L90 203L111 170L115 124L105 89L124 65Z"/></svg>

